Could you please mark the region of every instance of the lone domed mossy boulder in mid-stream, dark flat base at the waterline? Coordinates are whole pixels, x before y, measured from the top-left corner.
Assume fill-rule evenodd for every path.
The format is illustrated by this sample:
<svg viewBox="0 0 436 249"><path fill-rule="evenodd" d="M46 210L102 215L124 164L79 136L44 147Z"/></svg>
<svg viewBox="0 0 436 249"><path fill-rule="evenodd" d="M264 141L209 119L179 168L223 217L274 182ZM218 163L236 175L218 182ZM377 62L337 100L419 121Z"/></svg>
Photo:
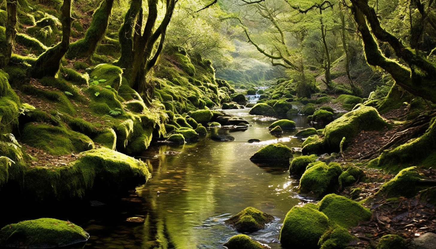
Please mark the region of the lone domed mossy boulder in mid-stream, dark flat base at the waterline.
<svg viewBox="0 0 436 249"><path fill-rule="evenodd" d="M269 144L258 150L250 160L259 163L289 163L292 150L281 143Z"/></svg>

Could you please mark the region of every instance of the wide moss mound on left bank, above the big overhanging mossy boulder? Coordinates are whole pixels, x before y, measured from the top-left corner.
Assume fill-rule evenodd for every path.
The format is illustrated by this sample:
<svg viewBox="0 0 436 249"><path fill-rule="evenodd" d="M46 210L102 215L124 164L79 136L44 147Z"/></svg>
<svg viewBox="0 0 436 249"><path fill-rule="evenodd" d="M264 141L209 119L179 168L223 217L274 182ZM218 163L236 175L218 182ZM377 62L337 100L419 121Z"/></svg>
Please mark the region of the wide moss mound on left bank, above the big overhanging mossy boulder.
<svg viewBox="0 0 436 249"><path fill-rule="evenodd" d="M21 133L21 140L55 156L94 148L94 143L88 136L67 130L65 127L47 124L26 124Z"/></svg>

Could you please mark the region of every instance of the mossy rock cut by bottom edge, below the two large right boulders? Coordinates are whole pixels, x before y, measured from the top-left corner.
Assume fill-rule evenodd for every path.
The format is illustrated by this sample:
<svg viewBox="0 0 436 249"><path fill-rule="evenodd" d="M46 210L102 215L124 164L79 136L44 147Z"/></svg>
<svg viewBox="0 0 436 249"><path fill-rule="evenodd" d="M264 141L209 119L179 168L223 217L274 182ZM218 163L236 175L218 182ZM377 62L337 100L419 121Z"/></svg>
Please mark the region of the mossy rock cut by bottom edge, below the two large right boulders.
<svg viewBox="0 0 436 249"><path fill-rule="evenodd" d="M318 244L320 249L346 249L348 243L353 240L357 240L357 238L351 235L347 229L336 228L324 233Z"/></svg>

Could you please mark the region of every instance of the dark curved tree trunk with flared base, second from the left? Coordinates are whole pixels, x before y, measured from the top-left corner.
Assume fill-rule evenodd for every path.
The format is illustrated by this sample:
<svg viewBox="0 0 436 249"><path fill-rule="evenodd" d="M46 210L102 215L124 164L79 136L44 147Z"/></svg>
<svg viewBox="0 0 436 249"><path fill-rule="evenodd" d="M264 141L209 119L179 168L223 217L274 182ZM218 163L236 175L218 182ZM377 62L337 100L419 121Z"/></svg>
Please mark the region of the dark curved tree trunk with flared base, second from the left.
<svg viewBox="0 0 436 249"><path fill-rule="evenodd" d="M34 65L32 65L32 78L56 75L59 71L62 57L64 57L65 53L68 51L72 22L71 0L64 0L61 10L62 41L38 57Z"/></svg>

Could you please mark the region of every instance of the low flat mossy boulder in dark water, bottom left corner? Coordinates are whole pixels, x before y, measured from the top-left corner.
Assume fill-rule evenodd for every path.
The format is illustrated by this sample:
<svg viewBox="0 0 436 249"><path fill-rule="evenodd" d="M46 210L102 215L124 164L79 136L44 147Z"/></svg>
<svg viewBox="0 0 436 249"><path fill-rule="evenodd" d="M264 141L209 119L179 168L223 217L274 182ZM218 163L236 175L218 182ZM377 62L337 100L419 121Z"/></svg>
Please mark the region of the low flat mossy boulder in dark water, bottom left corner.
<svg viewBox="0 0 436 249"><path fill-rule="evenodd" d="M40 218L6 225L0 230L0 246L14 248L52 248L88 240L89 234L68 221Z"/></svg>

